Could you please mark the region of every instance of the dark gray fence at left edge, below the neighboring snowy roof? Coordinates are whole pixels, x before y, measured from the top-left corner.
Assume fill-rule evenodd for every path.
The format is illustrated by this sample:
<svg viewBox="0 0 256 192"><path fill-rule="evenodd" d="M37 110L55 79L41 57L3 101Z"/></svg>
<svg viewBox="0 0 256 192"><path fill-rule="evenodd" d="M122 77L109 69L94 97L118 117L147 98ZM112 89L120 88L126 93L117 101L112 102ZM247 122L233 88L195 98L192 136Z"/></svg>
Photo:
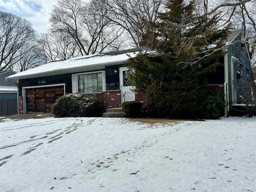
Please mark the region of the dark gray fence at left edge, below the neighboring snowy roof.
<svg viewBox="0 0 256 192"><path fill-rule="evenodd" d="M0 116L18 114L17 99L0 100Z"/></svg>

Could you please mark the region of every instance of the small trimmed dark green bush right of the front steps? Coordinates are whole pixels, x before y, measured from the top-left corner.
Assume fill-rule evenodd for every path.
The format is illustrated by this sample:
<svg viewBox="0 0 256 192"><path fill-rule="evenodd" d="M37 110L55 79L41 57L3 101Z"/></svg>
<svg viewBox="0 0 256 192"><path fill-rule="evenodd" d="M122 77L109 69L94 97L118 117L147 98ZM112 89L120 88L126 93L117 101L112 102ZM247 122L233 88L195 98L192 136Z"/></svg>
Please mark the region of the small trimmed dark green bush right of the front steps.
<svg viewBox="0 0 256 192"><path fill-rule="evenodd" d="M126 101L122 103L122 109L124 110L124 116L126 117L140 117L142 103L139 101Z"/></svg>

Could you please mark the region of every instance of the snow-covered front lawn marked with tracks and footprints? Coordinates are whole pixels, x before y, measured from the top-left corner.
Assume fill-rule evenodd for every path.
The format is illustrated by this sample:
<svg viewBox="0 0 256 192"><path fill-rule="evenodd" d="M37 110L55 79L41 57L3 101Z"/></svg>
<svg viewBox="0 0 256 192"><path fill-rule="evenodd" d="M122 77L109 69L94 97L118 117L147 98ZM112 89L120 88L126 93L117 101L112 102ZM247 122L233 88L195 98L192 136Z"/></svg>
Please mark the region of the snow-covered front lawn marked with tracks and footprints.
<svg viewBox="0 0 256 192"><path fill-rule="evenodd" d="M1 192L256 192L256 118L0 122Z"/></svg>

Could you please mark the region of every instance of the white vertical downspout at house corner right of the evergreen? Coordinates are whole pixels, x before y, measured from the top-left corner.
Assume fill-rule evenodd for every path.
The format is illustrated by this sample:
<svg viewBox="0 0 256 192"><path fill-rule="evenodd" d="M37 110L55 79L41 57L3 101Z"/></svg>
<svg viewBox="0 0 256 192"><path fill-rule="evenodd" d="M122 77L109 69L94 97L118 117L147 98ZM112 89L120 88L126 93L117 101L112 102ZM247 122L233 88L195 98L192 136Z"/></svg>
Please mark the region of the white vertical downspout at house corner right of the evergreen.
<svg viewBox="0 0 256 192"><path fill-rule="evenodd" d="M224 110L224 117L228 117L229 112L229 97L228 97L228 49L224 49L226 54L224 55L224 100L225 100L225 110Z"/></svg>

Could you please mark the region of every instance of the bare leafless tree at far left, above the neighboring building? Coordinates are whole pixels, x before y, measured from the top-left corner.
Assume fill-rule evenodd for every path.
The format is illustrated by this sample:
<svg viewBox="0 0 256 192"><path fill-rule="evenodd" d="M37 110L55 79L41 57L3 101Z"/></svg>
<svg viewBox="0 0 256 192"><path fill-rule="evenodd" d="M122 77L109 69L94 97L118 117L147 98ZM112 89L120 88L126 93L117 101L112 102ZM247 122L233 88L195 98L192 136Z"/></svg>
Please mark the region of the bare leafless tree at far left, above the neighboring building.
<svg viewBox="0 0 256 192"><path fill-rule="evenodd" d="M30 44L35 36L28 20L0 11L0 71L14 68L18 58L26 53L20 50Z"/></svg>

